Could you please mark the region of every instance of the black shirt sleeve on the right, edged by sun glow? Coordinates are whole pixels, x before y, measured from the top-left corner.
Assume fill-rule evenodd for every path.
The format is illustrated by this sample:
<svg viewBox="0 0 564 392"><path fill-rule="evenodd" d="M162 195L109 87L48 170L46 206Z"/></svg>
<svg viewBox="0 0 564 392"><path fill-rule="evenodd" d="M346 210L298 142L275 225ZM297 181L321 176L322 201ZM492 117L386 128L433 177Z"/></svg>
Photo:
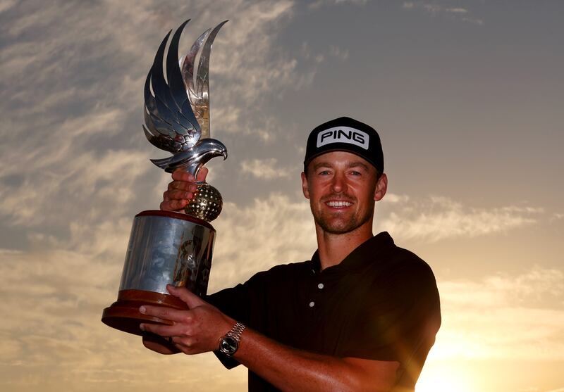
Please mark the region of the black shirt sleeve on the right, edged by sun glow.
<svg viewBox="0 0 564 392"><path fill-rule="evenodd" d="M419 374L439 330L441 311L433 272L418 261L393 268L367 285L345 356L398 361Z"/></svg>

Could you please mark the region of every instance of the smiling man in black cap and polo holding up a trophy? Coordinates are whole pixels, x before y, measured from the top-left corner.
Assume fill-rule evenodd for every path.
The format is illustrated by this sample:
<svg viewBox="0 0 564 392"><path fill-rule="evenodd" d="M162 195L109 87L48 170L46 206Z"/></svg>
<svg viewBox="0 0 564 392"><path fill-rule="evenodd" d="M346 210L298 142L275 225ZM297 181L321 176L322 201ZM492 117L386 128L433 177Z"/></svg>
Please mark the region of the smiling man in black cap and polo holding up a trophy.
<svg viewBox="0 0 564 392"><path fill-rule="evenodd" d="M194 182L174 172L161 208L183 208ZM441 324L439 293L423 260L388 233L372 234L387 184L372 127L352 118L316 127L302 172L317 234L312 260L259 272L207 301L169 286L190 310L142 306L173 322L141 324L171 342L145 346L213 350L226 367L249 369L250 391L413 391Z"/></svg>

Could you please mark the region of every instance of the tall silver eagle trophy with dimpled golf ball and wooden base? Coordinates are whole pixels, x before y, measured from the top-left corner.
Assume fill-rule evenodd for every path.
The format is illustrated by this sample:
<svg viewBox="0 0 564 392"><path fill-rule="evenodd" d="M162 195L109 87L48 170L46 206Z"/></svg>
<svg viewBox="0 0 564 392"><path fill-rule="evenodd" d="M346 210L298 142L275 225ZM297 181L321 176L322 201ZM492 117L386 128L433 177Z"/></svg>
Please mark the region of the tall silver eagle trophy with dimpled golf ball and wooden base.
<svg viewBox="0 0 564 392"><path fill-rule="evenodd" d="M164 37L145 81L145 125L151 144L173 153L152 162L173 172L178 168L196 176L208 160L223 156L226 147L209 137L209 54L224 21L206 30L183 58L178 59L178 42L186 20L173 34ZM197 61L197 67L196 60ZM186 206L185 214L161 210L142 211L135 216L125 254L118 299L102 313L102 322L130 334L144 335L140 322L171 324L158 317L142 315L140 305L161 305L176 309L188 306L166 291L166 285L186 286L199 296L207 291L216 231L210 221L221 212L219 191L206 182Z"/></svg>

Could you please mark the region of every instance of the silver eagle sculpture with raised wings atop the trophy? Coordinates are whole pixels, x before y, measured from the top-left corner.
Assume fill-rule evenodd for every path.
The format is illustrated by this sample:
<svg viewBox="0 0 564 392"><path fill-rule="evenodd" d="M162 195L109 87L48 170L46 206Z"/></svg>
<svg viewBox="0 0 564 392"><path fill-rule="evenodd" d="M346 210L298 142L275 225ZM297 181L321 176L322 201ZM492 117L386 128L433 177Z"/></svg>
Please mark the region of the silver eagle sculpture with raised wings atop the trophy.
<svg viewBox="0 0 564 392"><path fill-rule="evenodd" d="M182 167L197 175L208 160L223 156L227 149L221 141L209 137L209 55L221 26L206 30L192 45L183 59L178 59L178 42L186 20L173 34L166 54L164 51L171 31L166 34L145 81L145 125L149 142L161 150L173 153L152 163L166 172ZM195 61L200 54L197 68ZM181 65L180 65L181 64Z"/></svg>

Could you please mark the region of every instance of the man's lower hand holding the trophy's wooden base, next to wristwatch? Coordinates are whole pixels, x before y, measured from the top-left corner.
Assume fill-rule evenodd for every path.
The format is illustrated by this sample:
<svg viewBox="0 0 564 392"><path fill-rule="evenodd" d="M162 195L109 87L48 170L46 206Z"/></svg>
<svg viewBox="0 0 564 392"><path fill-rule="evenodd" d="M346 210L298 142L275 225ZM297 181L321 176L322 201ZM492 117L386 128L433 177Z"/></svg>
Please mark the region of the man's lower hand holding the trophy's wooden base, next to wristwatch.
<svg viewBox="0 0 564 392"><path fill-rule="evenodd" d="M152 332L168 339L171 346L154 346L150 339L143 339L145 347L161 354L175 353L173 348L185 354L205 353L217 350L221 339L235 325L235 320L223 315L217 308L191 293L185 287L166 286L171 295L184 301L190 310L177 310L162 306L142 305L139 311L144 315L170 320L173 325L140 324L142 331ZM176 351L178 352L178 351Z"/></svg>

